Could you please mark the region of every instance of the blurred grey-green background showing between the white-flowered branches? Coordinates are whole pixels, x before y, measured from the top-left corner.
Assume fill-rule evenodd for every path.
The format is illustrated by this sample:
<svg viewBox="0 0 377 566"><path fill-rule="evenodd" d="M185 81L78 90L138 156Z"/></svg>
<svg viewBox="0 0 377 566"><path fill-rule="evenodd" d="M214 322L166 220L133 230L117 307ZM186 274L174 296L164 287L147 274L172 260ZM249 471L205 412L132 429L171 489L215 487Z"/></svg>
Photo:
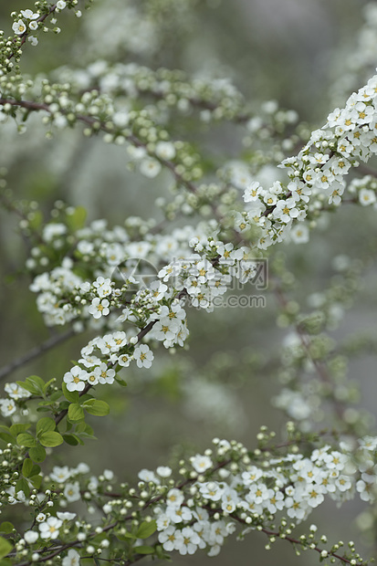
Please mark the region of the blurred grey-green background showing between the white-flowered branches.
<svg viewBox="0 0 377 566"><path fill-rule="evenodd" d="M301 121L319 127L377 64L376 50L375 62L371 57L371 64L359 74L350 72L366 4L362 0L96 0L80 19L62 14L61 34L46 34L38 47L27 47L22 67L31 75L48 74L59 66L80 68L110 58L152 68L183 68L190 76L230 77L256 108L264 100L278 100L282 108L297 110ZM11 6L0 4L0 28L5 33L11 28L10 7L30 6L18 0L12 0ZM57 199L84 205L89 221L106 217L109 225L122 224L130 215L161 218L153 202L167 194L168 175L149 180L131 173L125 166L124 148L84 138L79 128L47 140L37 116L21 135L12 121L0 126L0 164L8 169L9 186L16 198L37 201L47 218ZM215 126L213 131L193 126L185 139L203 143L219 161L236 159L241 150L241 136L229 125ZM0 214L0 360L5 365L55 330L45 328L28 290L29 280L18 275L26 249L17 234L17 219L5 211ZM298 300L304 303L310 293L324 288L333 257L345 250L358 257L365 246L377 249L375 218L370 211L346 206L319 226L309 245L293 250L285 246L288 266L298 277ZM334 336L375 328L375 290L371 267L357 306ZM279 435L287 419L271 406L271 397L281 387L274 382L271 352L284 340L285 330L275 324L275 299L268 294L266 299L265 309L215 309L212 314L192 309L190 350L171 356L161 349L151 373L128 369L124 377L129 387L121 391L110 387L104 393L111 416L92 419L98 441L56 449L57 464L86 461L96 474L111 468L118 477L132 480L142 467L168 464L183 449L200 452L214 436L236 438L252 447L260 425ZM89 335L71 339L7 381L33 373L60 379L87 339ZM351 373L361 384L361 404L375 414L372 353L352 362ZM317 522L331 541L359 540L368 554L372 551L368 541L357 534L353 521L361 509L354 502L341 510L328 502L313 513L309 524ZM189 558L174 556L173 562L181 566L214 560L219 566L318 563L317 556L296 557L281 542L266 552L266 542L262 535L250 534L242 542L229 539L215 559L198 552Z"/></svg>

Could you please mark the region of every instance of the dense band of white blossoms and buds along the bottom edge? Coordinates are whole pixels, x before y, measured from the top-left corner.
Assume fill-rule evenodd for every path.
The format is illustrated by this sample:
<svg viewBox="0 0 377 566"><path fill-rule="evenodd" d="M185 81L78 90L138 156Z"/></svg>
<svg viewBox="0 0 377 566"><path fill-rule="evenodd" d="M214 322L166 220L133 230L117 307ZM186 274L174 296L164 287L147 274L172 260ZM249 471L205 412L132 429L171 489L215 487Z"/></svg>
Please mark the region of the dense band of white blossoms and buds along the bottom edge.
<svg viewBox="0 0 377 566"><path fill-rule="evenodd" d="M258 436L270 438L266 427L262 429ZM54 466L48 475L39 475L38 491L30 492L26 487L17 491L16 484L16 489L12 485L3 492L3 502L26 505L35 516L29 529L16 532L15 555L30 555L32 561L48 559L59 540L63 564L79 560L81 553L105 558L115 550L116 539L128 532L135 552L142 553L139 541L148 539L148 553L157 557L197 550L215 556L225 539L242 527L239 536L257 530L264 532L270 543L277 537L288 537L291 543L317 550L322 557L346 562L340 553L341 543L329 550L318 548L327 540L315 540L315 526L298 540L292 529L326 497L343 502L357 490L362 499L374 501L377 484L371 466L375 465L377 438L362 438L354 454L346 445L340 450L322 445L308 456L290 450L289 443L286 446L285 456L268 458L260 450L249 452L241 443L215 438L214 447L204 455L179 462L182 481L175 478L177 471L171 466L158 466L155 471L142 469L136 488L127 484L116 487L110 469L94 476L83 463ZM72 503L86 506L87 516L92 518L77 519L69 510ZM95 519L96 507L103 512L99 521ZM278 528L273 524L277 521ZM349 563L361 563L354 549L348 556Z"/></svg>

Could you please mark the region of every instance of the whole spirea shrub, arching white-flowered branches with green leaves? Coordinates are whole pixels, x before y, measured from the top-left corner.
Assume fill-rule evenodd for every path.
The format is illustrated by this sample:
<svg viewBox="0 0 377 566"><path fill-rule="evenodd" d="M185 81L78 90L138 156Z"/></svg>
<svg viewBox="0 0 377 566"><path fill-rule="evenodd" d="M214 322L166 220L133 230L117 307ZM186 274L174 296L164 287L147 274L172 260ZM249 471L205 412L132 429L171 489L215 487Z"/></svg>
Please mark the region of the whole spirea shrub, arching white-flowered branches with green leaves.
<svg viewBox="0 0 377 566"><path fill-rule="evenodd" d="M87 222L85 207L62 200L47 219L43 204L18 198L1 170L2 207L19 217L27 249L17 269L54 333L0 372L0 563L125 566L178 554L215 557L228 537L254 531L267 550L288 544L324 564L366 564L353 541L328 540L310 515L330 499L339 506L361 499L358 525L375 538L377 434L372 414L357 404L347 364L375 351L376 339L371 332L337 343L331 335L371 254L354 259L345 249L334 257L327 287L302 307L294 299L299 278L282 249L307 246L309 255L345 203L365 213L377 208L375 173L366 165L377 153L375 6L367 6L351 72L333 87L339 108L314 129L275 101L256 109L230 79L154 64L172 29L184 36L193 24L195 3L95 4L41 0L11 14L0 32L0 121L5 131L16 123L18 133L33 132L36 160L40 139L54 146L66 131L120 146L135 179L163 177L167 190L156 201L162 220L125 211L121 225ZM28 74L24 52L42 57L45 35L75 16L81 57ZM148 58L149 67L140 63ZM216 132L225 123L243 149L236 159L229 153L218 160L215 133L193 131ZM255 357L236 353L223 365L230 374L236 368L235 380L252 372L274 377L271 403L288 418L278 434L261 423L248 445L215 437L206 449L182 448L172 462L141 469L130 481L127 470L124 477L107 467L94 475L86 463L57 459L64 443L69 454L95 442L111 411L103 398L109 386L120 396L128 374L143 369L141 393L148 394L163 352L186 355L190 310L211 320L221 307L264 306L267 295L285 330L281 348L271 348L269 361L256 348ZM11 381L16 369L73 336L79 355L64 372ZM237 414L231 388L216 381L222 368L209 361L214 379L204 383L179 363L181 392L192 404L206 412L203 399L213 398L220 418Z"/></svg>

